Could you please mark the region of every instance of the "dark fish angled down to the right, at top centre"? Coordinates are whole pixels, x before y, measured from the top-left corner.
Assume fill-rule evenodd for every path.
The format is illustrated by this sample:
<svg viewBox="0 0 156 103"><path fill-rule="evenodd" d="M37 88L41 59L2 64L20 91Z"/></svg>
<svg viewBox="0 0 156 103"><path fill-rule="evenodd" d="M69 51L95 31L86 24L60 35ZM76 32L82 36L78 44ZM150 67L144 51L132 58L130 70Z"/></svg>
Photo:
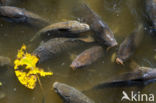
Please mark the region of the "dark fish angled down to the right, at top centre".
<svg viewBox="0 0 156 103"><path fill-rule="evenodd" d="M94 33L95 40L109 48L117 46L118 43L114 37L114 33L109 26L98 16L88 5L82 4L83 16L81 17Z"/></svg>

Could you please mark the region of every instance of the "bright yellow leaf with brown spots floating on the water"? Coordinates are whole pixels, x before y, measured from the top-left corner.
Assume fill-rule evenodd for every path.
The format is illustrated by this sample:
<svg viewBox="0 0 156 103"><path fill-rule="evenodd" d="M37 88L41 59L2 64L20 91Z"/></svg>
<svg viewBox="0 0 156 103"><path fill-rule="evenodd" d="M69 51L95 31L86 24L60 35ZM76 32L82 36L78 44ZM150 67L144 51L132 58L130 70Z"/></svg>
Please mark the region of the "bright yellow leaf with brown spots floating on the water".
<svg viewBox="0 0 156 103"><path fill-rule="evenodd" d="M43 69L36 67L38 60L35 55L27 53L26 46L23 45L14 61L15 74L19 82L29 89L35 88L38 75L41 77L53 75L52 72L44 72Z"/></svg>

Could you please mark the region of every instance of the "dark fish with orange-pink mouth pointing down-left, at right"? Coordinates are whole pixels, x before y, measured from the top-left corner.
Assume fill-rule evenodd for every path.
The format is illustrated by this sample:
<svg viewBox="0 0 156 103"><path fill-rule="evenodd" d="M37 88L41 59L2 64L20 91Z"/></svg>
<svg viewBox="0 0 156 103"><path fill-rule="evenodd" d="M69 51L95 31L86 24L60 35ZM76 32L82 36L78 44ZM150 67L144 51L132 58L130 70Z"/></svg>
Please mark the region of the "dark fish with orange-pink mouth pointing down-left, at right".
<svg viewBox="0 0 156 103"><path fill-rule="evenodd" d="M139 24L137 29L133 31L125 40L120 44L117 51L117 64L124 64L135 52L136 48L140 45L143 39L143 25Z"/></svg>

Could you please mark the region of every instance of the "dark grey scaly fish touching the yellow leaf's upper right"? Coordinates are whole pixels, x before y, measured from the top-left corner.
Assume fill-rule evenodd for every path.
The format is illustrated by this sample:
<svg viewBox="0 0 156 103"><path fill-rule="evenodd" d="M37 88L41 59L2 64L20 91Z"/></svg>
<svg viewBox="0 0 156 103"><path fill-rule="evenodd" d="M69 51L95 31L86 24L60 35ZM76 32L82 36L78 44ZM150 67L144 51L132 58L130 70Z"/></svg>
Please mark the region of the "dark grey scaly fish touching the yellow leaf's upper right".
<svg viewBox="0 0 156 103"><path fill-rule="evenodd" d="M39 64L56 57L56 55L80 46L89 46L92 42L85 42L75 38L52 38L40 44L33 54L39 57Z"/></svg>

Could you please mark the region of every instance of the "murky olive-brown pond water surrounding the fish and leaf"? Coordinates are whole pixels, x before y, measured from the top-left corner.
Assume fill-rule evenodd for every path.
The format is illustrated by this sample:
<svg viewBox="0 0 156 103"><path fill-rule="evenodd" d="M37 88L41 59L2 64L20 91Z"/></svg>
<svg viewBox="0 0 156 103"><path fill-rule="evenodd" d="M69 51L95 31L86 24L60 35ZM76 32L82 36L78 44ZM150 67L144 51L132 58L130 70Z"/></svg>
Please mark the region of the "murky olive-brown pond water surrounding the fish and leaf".
<svg viewBox="0 0 156 103"><path fill-rule="evenodd" d="M78 19L73 14L73 8L77 8L79 5L77 1L23 0L16 6L26 8L54 23ZM86 0L86 3L110 26L115 33L117 41L121 43L136 28L138 23L137 16L143 16L142 13L138 13L137 16L134 13L135 10L144 12L142 7L143 1ZM32 51L33 47L30 46L29 40L37 31L38 29L36 28L0 20L0 55L10 57L13 62L17 50L20 49L22 44L28 45L29 51ZM155 43L155 38L146 32L143 43L137 49L132 59L139 62L142 66L156 67L156 60L154 60L154 54L156 54L154 50L156 49ZM34 90L29 90L22 86L15 77L13 68L10 68L7 72L0 73L0 81L3 83L0 91L6 95L4 99L0 100L0 103L62 103L60 97L52 89L52 84L55 81L67 83L83 91L112 76L129 71L126 66L111 63L111 53L105 53L101 60L89 67L73 71L69 68L72 62L71 54L78 54L80 51L82 49L75 52L68 51L63 56L40 65L47 71L54 72L53 76L41 79L44 91L41 90L39 84ZM139 90L142 93L153 93L156 95L156 83L150 84L143 89L137 87L105 88L98 91L88 91L85 94L96 103L120 103L123 90L127 92Z"/></svg>

